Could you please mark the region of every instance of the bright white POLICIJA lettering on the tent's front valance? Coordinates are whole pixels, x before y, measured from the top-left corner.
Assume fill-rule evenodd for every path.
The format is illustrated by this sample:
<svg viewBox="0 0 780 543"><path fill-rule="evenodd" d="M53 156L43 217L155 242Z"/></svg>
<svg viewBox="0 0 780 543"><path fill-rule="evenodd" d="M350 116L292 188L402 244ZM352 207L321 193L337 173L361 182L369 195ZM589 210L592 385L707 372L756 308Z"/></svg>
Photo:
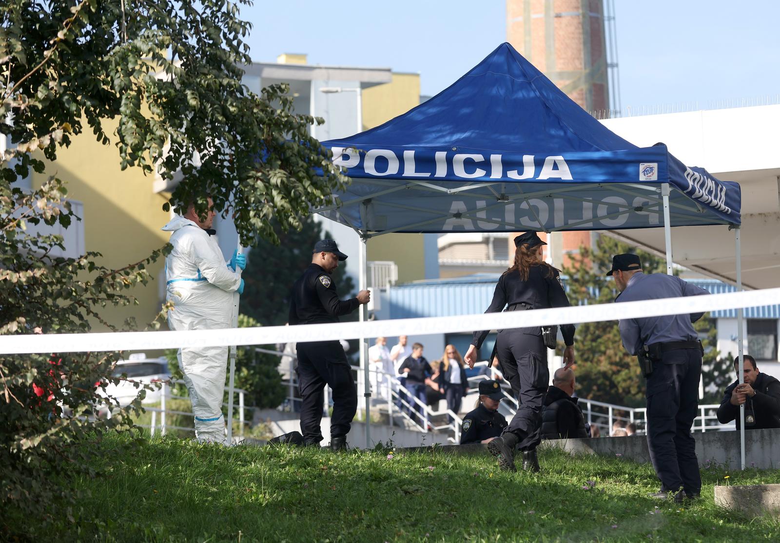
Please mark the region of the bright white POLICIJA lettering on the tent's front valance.
<svg viewBox="0 0 780 543"><path fill-rule="evenodd" d="M351 147L332 147L333 164L341 167L359 167L362 165L363 171L368 175L384 177L386 175L395 175L399 172L400 164L403 163L403 175L405 177L419 178L445 178L448 172L456 178L473 179L485 178L502 179L504 175L510 179L561 179L562 181L571 181L572 172L569 170L569 164L561 156L544 157L539 175L536 175L536 157L532 154L523 155L523 167L506 171L504 174L503 155L491 154L488 159L479 153L447 153L446 151L437 151L434 153L434 160L431 157L417 157L420 160L415 162L414 150L405 150L402 157L399 157L395 151L389 149L372 149L363 154ZM380 160L377 160L380 159ZM385 167L386 161L386 167ZM361 164L362 163L362 164ZM429 168L435 164L435 171L421 171L421 165ZM424 169L425 166L422 166Z"/></svg>

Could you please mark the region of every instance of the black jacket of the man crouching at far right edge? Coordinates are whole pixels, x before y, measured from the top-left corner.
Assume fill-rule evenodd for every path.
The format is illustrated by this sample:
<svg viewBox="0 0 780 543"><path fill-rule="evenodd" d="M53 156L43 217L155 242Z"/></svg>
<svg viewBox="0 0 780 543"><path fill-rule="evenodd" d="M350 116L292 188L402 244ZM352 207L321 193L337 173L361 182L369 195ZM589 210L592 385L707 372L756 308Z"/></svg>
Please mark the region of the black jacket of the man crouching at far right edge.
<svg viewBox="0 0 780 543"><path fill-rule="evenodd" d="M738 384L739 381L735 381L726 388L721 407L718 407L718 421L722 425L736 421L739 430L742 427L739 406L731 403L732 392ZM753 414L754 423L745 425L745 428L780 428L780 381L766 373L759 373L753 390L756 395L745 401L745 417Z"/></svg>

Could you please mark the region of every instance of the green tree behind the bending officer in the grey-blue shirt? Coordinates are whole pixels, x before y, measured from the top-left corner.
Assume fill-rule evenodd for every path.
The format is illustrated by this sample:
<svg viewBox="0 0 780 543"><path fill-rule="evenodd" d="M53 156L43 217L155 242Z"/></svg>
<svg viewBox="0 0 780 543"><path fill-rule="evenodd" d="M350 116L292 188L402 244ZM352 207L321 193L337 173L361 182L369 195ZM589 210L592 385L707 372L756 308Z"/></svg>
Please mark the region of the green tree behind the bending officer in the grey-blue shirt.
<svg viewBox="0 0 780 543"><path fill-rule="evenodd" d="M666 272L664 259L601 235L594 247L580 247L572 266L562 270L568 277L569 302L572 305L612 303L619 291L605 273L612 268L612 256L625 252L640 257L644 273ZM718 358L714 320L702 318L693 326L704 344L704 367L714 365ZM627 407L644 405L644 377L636 357L623 348L617 321L578 324L576 350L577 393L581 397ZM704 375L707 386L707 372Z"/></svg>

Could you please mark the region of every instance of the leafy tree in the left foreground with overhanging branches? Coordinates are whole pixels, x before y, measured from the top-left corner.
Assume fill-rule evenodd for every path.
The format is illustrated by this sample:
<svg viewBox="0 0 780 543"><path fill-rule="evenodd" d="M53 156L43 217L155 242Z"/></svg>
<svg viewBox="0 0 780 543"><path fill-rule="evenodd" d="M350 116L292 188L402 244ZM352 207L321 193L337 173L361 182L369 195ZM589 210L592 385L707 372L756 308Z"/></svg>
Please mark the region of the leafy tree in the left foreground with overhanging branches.
<svg viewBox="0 0 780 543"><path fill-rule="evenodd" d="M242 84L251 25L239 18L240 4L0 3L0 136L8 143L0 156L0 333L89 331L106 305L137 303L132 287L146 283L147 266L167 252L112 270L94 252L54 256L62 237L30 232L78 220L55 176L33 191L20 186L30 170L46 173L44 159L56 165L58 150L76 137L115 146L122 168L166 179L180 173L165 209L194 202L204 211L209 195L232 214L244 245L258 236L278 241L271 220L300 228L311 206L328 203L346 182L310 136L322 120L294 114L288 86L258 95ZM107 119L118 120L115 132ZM3 534L27 538L24 524L13 524L23 517L36 526L78 518L76 495L52 488L48 474L94 475L80 445L131 428L137 405L113 404L108 420L92 415L103 401L96 389L115 379L119 357L0 354L0 507L13 506L0 517Z"/></svg>

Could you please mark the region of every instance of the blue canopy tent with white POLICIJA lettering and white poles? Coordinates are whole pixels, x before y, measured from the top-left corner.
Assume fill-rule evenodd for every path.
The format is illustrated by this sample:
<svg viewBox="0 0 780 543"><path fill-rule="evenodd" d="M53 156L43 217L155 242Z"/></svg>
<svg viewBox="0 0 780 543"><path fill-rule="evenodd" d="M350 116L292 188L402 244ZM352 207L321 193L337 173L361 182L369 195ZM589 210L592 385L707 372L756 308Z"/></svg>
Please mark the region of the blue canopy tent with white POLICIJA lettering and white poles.
<svg viewBox="0 0 780 543"><path fill-rule="evenodd" d="M510 44L417 108L323 145L352 183L314 212L360 235L360 288L367 238L391 232L664 227L672 273L672 226L725 224L736 229L741 290L739 185L687 167L662 143L617 136Z"/></svg>

